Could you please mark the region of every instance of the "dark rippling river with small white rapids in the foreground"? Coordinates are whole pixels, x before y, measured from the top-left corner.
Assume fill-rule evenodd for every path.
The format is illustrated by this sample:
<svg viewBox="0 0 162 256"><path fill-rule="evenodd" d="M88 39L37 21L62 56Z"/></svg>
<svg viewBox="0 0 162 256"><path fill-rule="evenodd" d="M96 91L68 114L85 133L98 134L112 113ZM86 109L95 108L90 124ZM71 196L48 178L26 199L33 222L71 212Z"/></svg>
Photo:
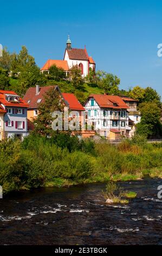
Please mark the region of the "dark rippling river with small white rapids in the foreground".
<svg viewBox="0 0 162 256"><path fill-rule="evenodd" d="M162 245L160 179L121 182L138 193L106 205L106 184L42 188L0 199L1 245Z"/></svg>

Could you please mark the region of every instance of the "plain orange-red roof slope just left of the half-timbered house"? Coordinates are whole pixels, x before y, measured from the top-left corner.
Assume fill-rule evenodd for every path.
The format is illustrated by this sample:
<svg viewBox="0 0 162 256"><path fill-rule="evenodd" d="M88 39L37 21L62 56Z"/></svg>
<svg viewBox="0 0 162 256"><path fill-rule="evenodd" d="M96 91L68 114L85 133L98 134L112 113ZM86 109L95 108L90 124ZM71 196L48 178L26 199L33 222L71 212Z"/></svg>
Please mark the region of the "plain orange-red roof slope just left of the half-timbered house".
<svg viewBox="0 0 162 256"><path fill-rule="evenodd" d="M77 97L72 93L62 93L64 100L66 100L69 104L69 108L71 110L82 110L85 108L81 105L81 103L77 100Z"/></svg>

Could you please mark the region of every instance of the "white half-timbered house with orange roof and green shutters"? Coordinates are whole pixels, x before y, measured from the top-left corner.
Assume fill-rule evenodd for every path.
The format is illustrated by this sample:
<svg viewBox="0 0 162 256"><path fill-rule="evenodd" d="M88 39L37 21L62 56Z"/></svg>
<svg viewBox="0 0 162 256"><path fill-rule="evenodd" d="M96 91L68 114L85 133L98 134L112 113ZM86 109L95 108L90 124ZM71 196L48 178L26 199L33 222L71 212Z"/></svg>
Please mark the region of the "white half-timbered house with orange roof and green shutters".
<svg viewBox="0 0 162 256"><path fill-rule="evenodd" d="M87 120L100 136L118 139L128 136L128 106L120 96L91 94L84 105Z"/></svg>

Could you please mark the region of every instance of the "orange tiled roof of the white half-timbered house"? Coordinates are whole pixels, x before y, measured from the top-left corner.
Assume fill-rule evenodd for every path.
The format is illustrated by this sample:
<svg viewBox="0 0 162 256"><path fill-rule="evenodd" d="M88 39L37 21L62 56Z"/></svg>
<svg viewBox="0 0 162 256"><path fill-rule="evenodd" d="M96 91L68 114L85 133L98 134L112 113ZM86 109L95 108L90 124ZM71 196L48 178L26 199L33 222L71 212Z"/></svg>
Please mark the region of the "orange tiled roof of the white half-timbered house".
<svg viewBox="0 0 162 256"><path fill-rule="evenodd" d="M95 101L98 103L98 105L102 108L114 108L114 109L129 108L119 96L91 94L89 97L93 97ZM113 103L116 103L117 106L114 106Z"/></svg>

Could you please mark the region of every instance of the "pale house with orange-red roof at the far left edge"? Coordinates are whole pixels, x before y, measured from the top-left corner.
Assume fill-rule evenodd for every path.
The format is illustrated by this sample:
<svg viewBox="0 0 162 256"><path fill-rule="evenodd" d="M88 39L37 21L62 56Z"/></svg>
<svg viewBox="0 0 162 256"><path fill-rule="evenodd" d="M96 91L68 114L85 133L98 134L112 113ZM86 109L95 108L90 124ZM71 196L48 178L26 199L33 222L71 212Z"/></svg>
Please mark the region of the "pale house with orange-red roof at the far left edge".
<svg viewBox="0 0 162 256"><path fill-rule="evenodd" d="M3 119L1 115L1 138L16 136L23 139L27 136L28 104L15 92L0 90L0 105L5 111Z"/></svg>

